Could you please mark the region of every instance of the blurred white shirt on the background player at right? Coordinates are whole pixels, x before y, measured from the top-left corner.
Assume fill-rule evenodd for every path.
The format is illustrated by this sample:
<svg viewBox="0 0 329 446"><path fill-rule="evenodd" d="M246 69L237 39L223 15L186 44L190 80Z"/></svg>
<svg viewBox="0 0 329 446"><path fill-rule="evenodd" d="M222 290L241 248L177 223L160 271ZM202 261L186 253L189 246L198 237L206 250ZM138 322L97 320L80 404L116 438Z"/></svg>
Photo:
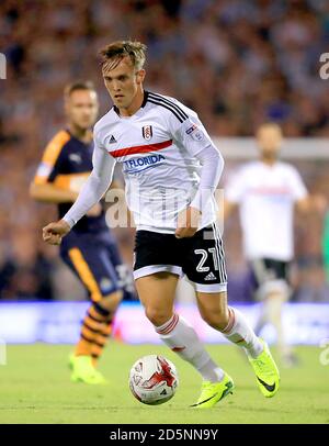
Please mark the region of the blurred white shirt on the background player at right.
<svg viewBox="0 0 329 446"><path fill-rule="evenodd" d="M290 164L252 161L239 169L225 188L225 199L239 204L248 259L292 259L294 203L306 196L300 175Z"/></svg>

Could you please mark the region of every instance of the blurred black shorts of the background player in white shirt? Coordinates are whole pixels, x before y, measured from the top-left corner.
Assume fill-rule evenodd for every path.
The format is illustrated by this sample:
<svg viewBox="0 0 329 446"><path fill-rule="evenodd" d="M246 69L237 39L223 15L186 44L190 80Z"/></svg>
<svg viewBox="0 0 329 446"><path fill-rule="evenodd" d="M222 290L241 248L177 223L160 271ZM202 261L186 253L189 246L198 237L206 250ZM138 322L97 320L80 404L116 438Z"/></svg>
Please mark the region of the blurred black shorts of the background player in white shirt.
<svg viewBox="0 0 329 446"><path fill-rule="evenodd" d="M250 263L252 291L258 299L272 292L290 292L290 263L272 258L259 258Z"/></svg>

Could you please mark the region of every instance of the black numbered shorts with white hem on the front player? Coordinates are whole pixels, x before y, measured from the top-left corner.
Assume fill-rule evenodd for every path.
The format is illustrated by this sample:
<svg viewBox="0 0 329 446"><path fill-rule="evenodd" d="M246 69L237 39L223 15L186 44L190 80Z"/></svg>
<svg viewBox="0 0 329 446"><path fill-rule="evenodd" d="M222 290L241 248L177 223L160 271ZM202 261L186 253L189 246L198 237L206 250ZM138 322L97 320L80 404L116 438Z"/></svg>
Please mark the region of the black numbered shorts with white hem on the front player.
<svg viewBox="0 0 329 446"><path fill-rule="evenodd" d="M223 241L215 224L193 237L137 231L134 278L167 271L186 275L196 291L222 292L227 288Z"/></svg>

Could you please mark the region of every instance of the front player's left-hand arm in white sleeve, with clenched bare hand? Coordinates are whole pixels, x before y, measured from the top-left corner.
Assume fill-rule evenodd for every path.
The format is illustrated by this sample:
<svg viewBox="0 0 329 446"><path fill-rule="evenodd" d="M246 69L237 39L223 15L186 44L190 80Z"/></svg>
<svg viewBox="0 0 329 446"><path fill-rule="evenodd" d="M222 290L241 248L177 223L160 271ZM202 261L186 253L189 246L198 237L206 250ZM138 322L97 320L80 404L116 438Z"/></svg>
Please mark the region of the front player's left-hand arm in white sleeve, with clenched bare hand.
<svg viewBox="0 0 329 446"><path fill-rule="evenodd" d="M43 238L50 245L58 245L71 227L103 197L113 176L115 159L95 142L93 169L83 185L75 204L58 222L49 223L43 228Z"/></svg>

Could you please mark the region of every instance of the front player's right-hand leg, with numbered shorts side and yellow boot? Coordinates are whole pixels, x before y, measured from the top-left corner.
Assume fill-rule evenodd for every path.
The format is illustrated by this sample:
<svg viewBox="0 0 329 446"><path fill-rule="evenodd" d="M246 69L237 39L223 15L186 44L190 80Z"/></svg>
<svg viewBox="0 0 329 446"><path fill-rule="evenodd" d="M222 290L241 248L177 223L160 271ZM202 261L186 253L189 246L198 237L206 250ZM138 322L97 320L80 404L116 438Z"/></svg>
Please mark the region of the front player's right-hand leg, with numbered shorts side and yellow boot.
<svg viewBox="0 0 329 446"><path fill-rule="evenodd" d="M228 341L245 348L262 393L272 397L279 388L279 371L269 348L256 336L242 313L227 305L224 248L217 227L198 231L186 243L183 269L194 282L202 317Z"/></svg>

